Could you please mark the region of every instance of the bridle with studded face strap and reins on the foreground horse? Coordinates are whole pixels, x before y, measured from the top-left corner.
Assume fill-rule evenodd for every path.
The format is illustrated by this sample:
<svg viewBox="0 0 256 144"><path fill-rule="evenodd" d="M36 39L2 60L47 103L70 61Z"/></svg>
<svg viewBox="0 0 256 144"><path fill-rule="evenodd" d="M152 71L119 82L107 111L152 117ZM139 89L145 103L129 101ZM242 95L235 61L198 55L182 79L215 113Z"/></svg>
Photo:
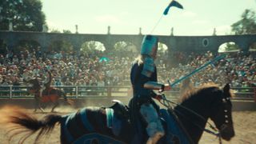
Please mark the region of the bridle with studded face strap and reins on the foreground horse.
<svg viewBox="0 0 256 144"><path fill-rule="evenodd" d="M224 106L225 106L225 109L224 109L225 115L224 115L224 117L225 117L226 120L225 120L225 123L223 123L222 126L220 126L220 129L219 129L219 130L218 130L218 128L217 128L216 126L213 126L210 122L208 122L208 121L206 120L206 118L203 118L202 115L196 113L194 110L190 110L190 109L187 108L186 106L182 106L182 105L180 105L180 104L178 104L178 103L176 103L176 102L172 102L172 101L168 100L168 99L166 98L165 94L162 94L162 102L161 102L161 101L159 101L159 102L160 102L163 106L166 106L166 108L171 109L171 110L173 110L173 109L172 109L172 107L170 106L170 103L174 104L175 106L180 106L180 107L182 107L184 110L187 110L187 111L189 111L190 113L196 115L198 118L201 118L203 121L205 121L205 122L210 126L210 128L211 128L212 130L208 130L208 129L206 129L206 128L202 128L202 126L199 126L197 123L194 123L194 122L192 122L192 123L193 123L195 126L198 126L199 129L201 129L201 130L203 130L203 131L206 131L206 133L209 133L209 134L212 134L212 135L216 136L216 137L218 138L219 143L222 144L222 131L227 128L227 124L229 123L229 121L227 120L227 118L228 118L228 115L227 115L228 110L226 109L226 107L227 107L227 102L229 102L229 101L230 101L230 98L222 98L222 103L224 103ZM176 111L176 112L178 112L178 111ZM178 113L181 114L180 112L178 112ZM181 114L181 115L182 115L184 118L186 118L183 114ZM188 118L187 118L187 119L188 119ZM214 130L214 131L213 131L213 130Z"/></svg>

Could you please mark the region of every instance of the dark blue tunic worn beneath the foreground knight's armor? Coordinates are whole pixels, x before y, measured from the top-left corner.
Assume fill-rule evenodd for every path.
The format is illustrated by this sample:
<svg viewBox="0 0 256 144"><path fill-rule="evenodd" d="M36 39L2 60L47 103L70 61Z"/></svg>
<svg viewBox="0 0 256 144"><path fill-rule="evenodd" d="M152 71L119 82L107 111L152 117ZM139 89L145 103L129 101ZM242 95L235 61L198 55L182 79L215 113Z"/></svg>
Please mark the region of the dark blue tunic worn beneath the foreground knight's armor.
<svg viewBox="0 0 256 144"><path fill-rule="evenodd" d="M130 121L134 125L135 137L133 139L133 144L146 142L145 128L142 128L143 124L141 121L141 114L139 113L140 106L143 103L153 104L156 110L159 109L158 105L154 102L154 98L157 94L154 90L145 89L143 86L146 82L157 82L157 70L154 66L154 73L151 74L150 78L142 74L143 64L138 66L138 62L134 62L130 71L130 82L133 86L134 97L131 98L129 102L130 106Z"/></svg>

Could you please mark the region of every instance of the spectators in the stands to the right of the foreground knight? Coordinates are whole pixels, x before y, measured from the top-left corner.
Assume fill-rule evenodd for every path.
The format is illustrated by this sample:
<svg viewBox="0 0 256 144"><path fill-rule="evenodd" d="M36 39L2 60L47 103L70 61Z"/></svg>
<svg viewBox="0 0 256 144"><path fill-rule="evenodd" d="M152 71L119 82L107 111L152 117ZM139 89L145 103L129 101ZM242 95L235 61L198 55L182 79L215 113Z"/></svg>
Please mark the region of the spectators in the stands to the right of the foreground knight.
<svg viewBox="0 0 256 144"><path fill-rule="evenodd" d="M218 54L219 55L219 54ZM186 64L167 68L163 64L160 73L163 77L170 78L174 82L178 78L190 74L193 70L211 61L216 56L209 51L206 54L190 54L186 58ZM254 87L256 84L256 55L235 52L226 54L226 58L213 62L205 69L200 70L190 77L192 86L200 86L203 83L214 82L223 86L229 82L233 87ZM162 79L163 81L164 79Z"/></svg>

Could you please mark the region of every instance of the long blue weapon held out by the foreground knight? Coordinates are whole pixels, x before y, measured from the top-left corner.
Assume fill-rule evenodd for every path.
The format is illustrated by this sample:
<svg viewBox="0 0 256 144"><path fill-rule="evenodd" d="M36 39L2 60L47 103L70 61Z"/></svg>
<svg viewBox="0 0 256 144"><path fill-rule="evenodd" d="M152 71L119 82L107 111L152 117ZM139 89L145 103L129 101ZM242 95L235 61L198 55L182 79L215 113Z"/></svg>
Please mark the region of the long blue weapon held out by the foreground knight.
<svg viewBox="0 0 256 144"><path fill-rule="evenodd" d="M213 60L209 61L209 62L206 62L206 64L198 67L196 70L192 71L190 74L187 74L185 76L183 76L182 78L179 78L178 80L176 80L175 82L173 83L170 83L170 80L168 80L168 83L170 85L170 87L174 87L175 85L177 85L179 82L182 82L184 79L186 78L189 78L191 75L195 74L195 73L198 73L198 71L202 70L203 68L205 68L206 66L216 62L216 61L219 61L221 60L222 58L225 58L226 57L226 54L222 54L222 55L219 55L218 57L214 58Z"/></svg>

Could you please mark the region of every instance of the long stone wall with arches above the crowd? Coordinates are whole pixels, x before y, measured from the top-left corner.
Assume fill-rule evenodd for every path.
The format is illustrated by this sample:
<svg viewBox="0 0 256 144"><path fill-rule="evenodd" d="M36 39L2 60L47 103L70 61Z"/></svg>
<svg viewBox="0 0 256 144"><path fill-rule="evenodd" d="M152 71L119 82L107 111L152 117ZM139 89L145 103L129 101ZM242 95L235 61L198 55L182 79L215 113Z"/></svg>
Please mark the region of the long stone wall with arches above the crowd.
<svg viewBox="0 0 256 144"><path fill-rule="evenodd" d="M18 42L29 40L38 42L42 50L47 50L51 42L67 41L74 46L74 50L80 50L82 43L101 42L106 50L114 48L117 42L131 42L140 49L142 34L60 34L24 31L0 31L0 40L6 42L8 49L14 49ZM164 43L169 52L180 51L184 53L212 51L218 53L219 46L226 42L234 42L243 51L248 51L256 42L256 34L222 35L222 36L168 36L158 35L159 42Z"/></svg>

